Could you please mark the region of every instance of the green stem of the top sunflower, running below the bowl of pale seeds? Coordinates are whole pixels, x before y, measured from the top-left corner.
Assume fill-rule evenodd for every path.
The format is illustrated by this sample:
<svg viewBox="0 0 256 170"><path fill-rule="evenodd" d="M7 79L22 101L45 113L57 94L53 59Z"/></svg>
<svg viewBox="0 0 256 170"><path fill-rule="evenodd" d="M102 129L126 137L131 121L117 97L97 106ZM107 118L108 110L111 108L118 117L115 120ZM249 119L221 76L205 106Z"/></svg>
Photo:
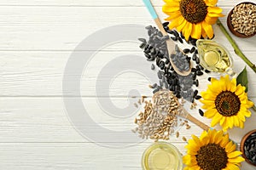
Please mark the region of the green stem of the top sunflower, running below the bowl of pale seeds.
<svg viewBox="0 0 256 170"><path fill-rule="evenodd" d="M243 59L247 63L247 65L249 65L253 69L254 72L256 72L256 66L249 59L247 59L247 57L241 52L240 48L238 48L234 39L232 37L230 37L229 32L226 31L225 27L222 25L220 20L217 20L217 25L219 26L220 30L224 33L225 37L228 38L229 42L231 43L232 47L235 50L235 53L239 57L241 57L241 59Z"/></svg>

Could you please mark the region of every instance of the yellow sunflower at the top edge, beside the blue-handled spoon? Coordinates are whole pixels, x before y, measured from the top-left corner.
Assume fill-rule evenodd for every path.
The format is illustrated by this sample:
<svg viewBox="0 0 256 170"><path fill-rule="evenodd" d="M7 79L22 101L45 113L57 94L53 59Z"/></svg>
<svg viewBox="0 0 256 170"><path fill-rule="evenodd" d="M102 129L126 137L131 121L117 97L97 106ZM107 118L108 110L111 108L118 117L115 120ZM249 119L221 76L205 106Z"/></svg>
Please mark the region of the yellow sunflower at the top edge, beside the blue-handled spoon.
<svg viewBox="0 0 256 170"><path fill-rule="evenodd" d="M162 10L172 20L169 28L182 31L186 40L189 36L199 39L213 37L212 25L218 20L222 8L215 7L218 0L164 0Z"/></svg>

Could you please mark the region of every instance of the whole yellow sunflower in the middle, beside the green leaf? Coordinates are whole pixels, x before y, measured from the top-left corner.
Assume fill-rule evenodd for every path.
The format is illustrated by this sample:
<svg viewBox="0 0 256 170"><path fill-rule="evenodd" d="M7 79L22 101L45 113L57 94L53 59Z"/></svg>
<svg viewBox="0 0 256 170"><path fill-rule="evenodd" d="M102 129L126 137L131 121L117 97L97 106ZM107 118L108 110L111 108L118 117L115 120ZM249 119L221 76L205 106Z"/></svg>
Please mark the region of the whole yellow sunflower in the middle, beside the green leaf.
<svg viewBox="0 0 256 170"><path fill-rule="evenodd" d="M253 106L245 87L236 86L236 78L230 80L228 75L219 80L211 78L211 82L207 91L201 93L202 109L207 110L204 116L212 118L212 127L219 122L224 131L233 126L243 128L245 117L251 116L248 109Z"/></svg>

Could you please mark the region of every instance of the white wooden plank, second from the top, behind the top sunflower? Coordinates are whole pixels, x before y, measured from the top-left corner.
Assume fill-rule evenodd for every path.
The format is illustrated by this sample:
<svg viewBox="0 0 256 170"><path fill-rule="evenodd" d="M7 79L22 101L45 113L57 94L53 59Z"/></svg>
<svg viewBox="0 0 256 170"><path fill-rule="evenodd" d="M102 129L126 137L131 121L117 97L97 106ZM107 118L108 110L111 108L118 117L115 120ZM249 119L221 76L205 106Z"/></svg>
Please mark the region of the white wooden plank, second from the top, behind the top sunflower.
<svg viewBox="0 0 256 170"><path fill-rule="evenodd" d="M160 19L166 18L161 8L156 8ZM224 8L224 14L229 8ZM114 11L114 13L113 13ZM118 14L118 15L117 15ZM135 20L136 19L136 20ZM122 25L119 33L131 40L137 41L141 35L139 26L153 25L153 20L143 7L0 7L0 50L69 50L72 51L86 37L103 29L102 38L111 39L114 33L106 32L106 28ZM221 19L225 20L225 18ZM105 28L105 30L104 30ZM131 29L129 29L131 28ZM128 31L128 32L127 32ZM130 31L130 32L129 32ZM106 32L106 33L105 33ZM117 31L115 31L117 33ZM105 33L105 34L104 34ZM146 31L145 31L146 33ZM221 35L219 29L215 33ZM109 36L110 35L110 36ZM129 39L130 40L130 39ZM225 37L218 36L216 40L228 44ZM238 45L245 51L255 50L252 44L254 38L238 39ZM97 41L101 41L97 39ZM108 49L131 50L131 47L109 47ZM231 49L230 46L227 46ZM81 50L96 50L96 43L91 42Z"/></svg>

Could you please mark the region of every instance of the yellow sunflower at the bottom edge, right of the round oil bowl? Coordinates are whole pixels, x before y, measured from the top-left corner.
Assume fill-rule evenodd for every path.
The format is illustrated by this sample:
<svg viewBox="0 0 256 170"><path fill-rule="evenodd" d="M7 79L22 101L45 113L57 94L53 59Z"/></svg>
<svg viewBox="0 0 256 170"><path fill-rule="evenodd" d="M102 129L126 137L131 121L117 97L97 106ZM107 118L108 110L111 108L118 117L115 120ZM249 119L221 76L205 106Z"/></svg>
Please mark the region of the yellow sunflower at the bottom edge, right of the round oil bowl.
<svg viewBox="0 0 256 170"><path fill-rule="evenodd" d="M183 163L187 167L183 170L239 170L244 161L241 151L223 131L204 131L200 138L192 135L185 148L188 150Z"/></svg>

